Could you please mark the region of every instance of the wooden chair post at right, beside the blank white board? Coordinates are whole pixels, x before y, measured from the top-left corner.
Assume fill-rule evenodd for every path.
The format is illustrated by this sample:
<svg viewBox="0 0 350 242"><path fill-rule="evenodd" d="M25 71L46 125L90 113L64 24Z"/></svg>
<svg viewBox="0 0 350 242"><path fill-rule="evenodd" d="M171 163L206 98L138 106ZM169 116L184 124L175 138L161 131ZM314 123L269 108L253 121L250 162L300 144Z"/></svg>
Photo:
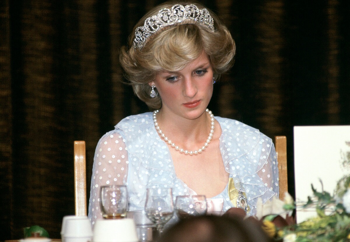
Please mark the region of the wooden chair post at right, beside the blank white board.
<svg viewBox="0 0 350 242"><path fill-rule="evenodd" d="M288 192L287 175L287 138L286 136L275 136L275 149L278 161L280 200L283 200L285 192Z"/></svg>

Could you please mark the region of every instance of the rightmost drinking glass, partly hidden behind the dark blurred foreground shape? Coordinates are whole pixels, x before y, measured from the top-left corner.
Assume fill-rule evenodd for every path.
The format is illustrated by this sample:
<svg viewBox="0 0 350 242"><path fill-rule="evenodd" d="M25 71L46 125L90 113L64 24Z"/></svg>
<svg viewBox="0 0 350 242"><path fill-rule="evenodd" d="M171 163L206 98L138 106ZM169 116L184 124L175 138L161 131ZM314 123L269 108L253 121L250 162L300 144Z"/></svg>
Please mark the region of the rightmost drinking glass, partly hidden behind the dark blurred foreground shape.
<svg viewBox="0 0 350 242"><path fill-rule="evenodd" d="M207 213L207 200L204 195L177 196L175 210L180 219Z"/></svg>

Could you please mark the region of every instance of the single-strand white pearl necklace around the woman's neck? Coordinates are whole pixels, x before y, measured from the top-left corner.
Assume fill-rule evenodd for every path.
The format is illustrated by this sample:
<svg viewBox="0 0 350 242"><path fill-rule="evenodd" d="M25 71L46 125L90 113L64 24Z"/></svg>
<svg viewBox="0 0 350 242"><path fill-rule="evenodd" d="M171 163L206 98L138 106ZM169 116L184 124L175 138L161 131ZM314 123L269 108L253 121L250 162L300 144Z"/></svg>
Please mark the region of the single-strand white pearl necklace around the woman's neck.
<svg viewBox="0 0 350 242"><path fill-rule="evenodd" d="M168 137L166 137L165 134L163 134L163 131L160 129L160 127L158 125L158 121L157 121L157 113L159 112L159 110L153 111L153 123L154 123L155 129L160 134L160 136L166 142L168 142L168 144L171 145L171 147L173 147L176 151L180 151L181 153L184 153L185 155L197 155L199 153L202 153L202 151L204 151L205 148L208 147L210 140L212 139L213 134L214 134L214 124L215 124L214 115L212 114L211 111L209 111L209 109L206 109L205 111L207 113L209 113L209 116L210 116L210 132L209 132L209 136L208 136L207 140L205 141L204 145L202 146L202 148L195 150L195 151L188 151L188 150L184 150L184 149L180 148L179 146L175 145Z"/></svg>

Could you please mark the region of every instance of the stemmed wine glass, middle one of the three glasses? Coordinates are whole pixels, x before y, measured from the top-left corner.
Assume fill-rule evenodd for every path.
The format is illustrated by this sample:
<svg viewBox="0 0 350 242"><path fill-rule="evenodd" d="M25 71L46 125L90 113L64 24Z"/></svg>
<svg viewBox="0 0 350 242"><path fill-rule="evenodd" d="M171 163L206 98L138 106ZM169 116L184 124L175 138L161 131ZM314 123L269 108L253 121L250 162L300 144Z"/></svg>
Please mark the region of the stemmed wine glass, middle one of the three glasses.
<svg viewBox="0 0 350 242"><path fill-rule="evenodd" d="M145 211L149 220L161 234L164 225L173 217L173 193L171 188L148 188Z"/></svg>

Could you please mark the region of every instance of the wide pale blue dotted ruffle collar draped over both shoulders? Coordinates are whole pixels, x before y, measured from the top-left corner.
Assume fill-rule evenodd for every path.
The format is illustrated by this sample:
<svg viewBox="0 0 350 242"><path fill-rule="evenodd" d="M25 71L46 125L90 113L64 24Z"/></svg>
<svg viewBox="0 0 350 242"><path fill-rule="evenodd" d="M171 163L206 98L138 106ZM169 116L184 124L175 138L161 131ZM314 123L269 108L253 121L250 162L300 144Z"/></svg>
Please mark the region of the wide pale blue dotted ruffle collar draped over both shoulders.
<svg viewBox="0 0 350 242"><path fill-rule="evenodd" d="M263 142L272 143L271 139L237 120L215 117L219 122L222 134L220 136L220 150L225 169L235 181L236 189L246 192L249 200L264 193L272 197L274 192L269 190L261 181L257 172L265 164L266 159L261 159L261 146ZM140 165L149 170L150 177L160 172L168 177L173 177L172 184L155 179L156 184L172 186L176 182L176 174L169 148L163 141L153 124L152 112L129 116L121 120L116 126L124 132L129 159L137 159ZM271 149L271 145L269 146ZM269 153L269 151L267 152ZM153 179L154 180L154 179ZM149 184L153 185L151 179ZM249 191L260 191L249 196Z"/></svg>

